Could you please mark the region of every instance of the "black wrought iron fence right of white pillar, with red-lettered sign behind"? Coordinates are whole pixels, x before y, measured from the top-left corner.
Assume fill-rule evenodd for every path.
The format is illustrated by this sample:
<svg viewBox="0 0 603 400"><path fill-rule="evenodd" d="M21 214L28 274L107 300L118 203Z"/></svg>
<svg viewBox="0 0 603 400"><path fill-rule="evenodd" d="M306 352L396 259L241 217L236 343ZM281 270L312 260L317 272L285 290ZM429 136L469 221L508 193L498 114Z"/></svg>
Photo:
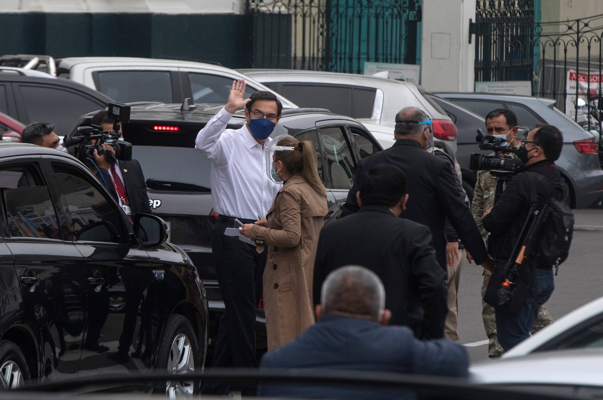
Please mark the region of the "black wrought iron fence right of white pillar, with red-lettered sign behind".
<svg viewBox="0 0 603 400"><path fill-rule="evenodd" d="M603 108L603 14L534 22L533 0L478 0L476 11L476 81L530 81L532 95L554 98L576 122L597 129L601 117L589 114Z"/></svg>

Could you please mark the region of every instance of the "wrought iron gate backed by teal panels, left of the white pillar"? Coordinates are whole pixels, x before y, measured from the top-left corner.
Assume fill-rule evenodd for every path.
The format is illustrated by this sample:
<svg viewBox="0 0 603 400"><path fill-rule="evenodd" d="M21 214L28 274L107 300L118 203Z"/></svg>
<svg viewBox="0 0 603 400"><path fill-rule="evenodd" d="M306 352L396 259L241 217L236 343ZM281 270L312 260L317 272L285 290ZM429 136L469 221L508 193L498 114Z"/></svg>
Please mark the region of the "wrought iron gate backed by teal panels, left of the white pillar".
<svg viewBox="0 0 603 400"><path fill-rule="evenodd" d="M250 66L362 73L417 61L420 0L247 0Z"/></svg>

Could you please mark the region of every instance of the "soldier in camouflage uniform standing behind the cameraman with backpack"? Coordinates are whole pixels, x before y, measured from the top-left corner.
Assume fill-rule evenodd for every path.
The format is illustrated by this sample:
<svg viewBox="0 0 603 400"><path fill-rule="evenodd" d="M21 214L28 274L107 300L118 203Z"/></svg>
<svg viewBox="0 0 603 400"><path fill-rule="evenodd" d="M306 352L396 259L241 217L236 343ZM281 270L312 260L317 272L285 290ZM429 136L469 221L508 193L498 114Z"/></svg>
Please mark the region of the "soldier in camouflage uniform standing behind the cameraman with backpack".
<svg viewBox="0 0 603 400"><path fill-rule="evenodd" d="M492 113L495 113L496 111L500 111L500 110L494 110L491 111ZM508 111L508 110L507 110ZM504 114L500 114L500 116L504 117ZM490 116L490 114L488 114L488 116ZM491 122L490 120L493 120L494 118L488 118L488 116L486 117L486 125L489 125L489 122ZM511 122L511 124L507 124L507 128L505 128L505 130L507 130L509 127L508 125L516 125L516 123ZM490 127L488 127L490 128ZM505 131L503 130L503 131ZM496 132L495 132L496 133ZM490 129L488 129L488 134L490 133ZM519 147L519 142L516 143L516 146ZM494 155L491 154L491 155ZM512 157L515 158L516 155L514 153L510 153L507 154L508 157ZM490 175L489 171L478 171L478 180L477 183L475 184L475 192L473 193L473 202L471 204L471 212L473 214L473 218L475 219L475 223L478 225L479 231L482 233L482 237L484 237L484 241L487 243L488 242L488 232L484 229L484 224L482 223L482 217L484 216L484 212L486 210L489 210L490 208L492 208L494 206L494 193L496 192L496 180L494 180L494 178L492 178L492 176ZM488 336L488 357L499 357L499 355L501 355L503 353L503 349L500 346L500 344L498 343L498 339L496 336L496 317L494 316L494 308L489 305L486 304L486 302L484 301L484 295L485 295L485 291L486 288L488 287L488 282L490 281L490 277L491 277L492 273L488 272L487 270L484 271L484 283L482 284L482 319L484 320L484 328L486 331L486 335ZM534 334L535 332L541 330L542 328L546 327L547 325L550 325L553 322L553 319L551 317L551 314L549 314L548 311L546 311L544 306L540 307L540 310L538 310L538 318L536 320L536 322L534 323L534 327L532 328L531 333Z"/></svg>

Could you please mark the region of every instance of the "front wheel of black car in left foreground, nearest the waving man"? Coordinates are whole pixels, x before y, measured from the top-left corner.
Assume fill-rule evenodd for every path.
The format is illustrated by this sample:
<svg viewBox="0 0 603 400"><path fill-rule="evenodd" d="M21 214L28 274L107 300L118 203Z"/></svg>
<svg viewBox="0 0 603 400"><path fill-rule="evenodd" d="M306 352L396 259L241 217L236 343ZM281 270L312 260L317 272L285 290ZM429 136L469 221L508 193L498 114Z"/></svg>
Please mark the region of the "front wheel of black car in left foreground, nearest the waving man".
<svg viewBox="0 0 603 400"><path fill-rule="evenodd" d="M203 370L195 330L191 322L180 314L169 316L163 331L156 364L156 371L161 370L177 375ZM165 394L171 399L192 398L199 393L199 384L184 380L164 381L157 383L153 392Z"/></svg>

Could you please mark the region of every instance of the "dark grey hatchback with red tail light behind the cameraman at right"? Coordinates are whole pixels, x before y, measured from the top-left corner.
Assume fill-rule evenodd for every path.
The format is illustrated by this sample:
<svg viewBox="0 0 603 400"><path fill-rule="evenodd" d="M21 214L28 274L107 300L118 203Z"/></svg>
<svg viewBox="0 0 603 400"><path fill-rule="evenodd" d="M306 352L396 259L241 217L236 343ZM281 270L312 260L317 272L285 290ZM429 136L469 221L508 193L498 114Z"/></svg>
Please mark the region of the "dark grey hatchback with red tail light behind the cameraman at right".
<svg viewBox="0 0 603 400"><path fill-rule="evenodd" d="M435 93L485 118L496 108L508 108L517 123L532 130L538 123L555 125L563 133L563 151L556 164L570 189L572 208L585 208L603 198L603 171L598 145L585 131L555 107L554 99L489 93ZM478 143L475 148L478 149Z"/></svg>

